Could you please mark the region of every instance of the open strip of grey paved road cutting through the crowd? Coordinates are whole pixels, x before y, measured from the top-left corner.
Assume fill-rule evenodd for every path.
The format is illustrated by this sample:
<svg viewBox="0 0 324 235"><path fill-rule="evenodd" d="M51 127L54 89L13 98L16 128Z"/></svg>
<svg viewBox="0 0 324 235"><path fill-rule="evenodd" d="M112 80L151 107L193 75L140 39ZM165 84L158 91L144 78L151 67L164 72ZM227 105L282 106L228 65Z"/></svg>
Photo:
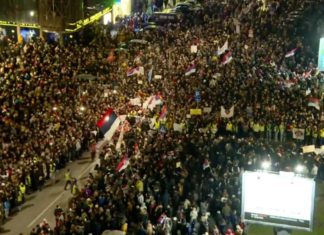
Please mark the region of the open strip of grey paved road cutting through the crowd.
<svg viewBox="0 0 324 235"><path fill-rule="evenodd" d="M87 152L80 159L67 164L66 169L70 168L72 176L78 179L79 188L84 183L89 172L93 171L97 161L92 162L90 154ZM47 182L42 191L28 195L22 210L9 218L9 221L1 227L2 231L0 233L27 235L44 218L54 228L54 209L56 205L66 209L67 202L72 196L69 190L64 191L64 173L65 169L61 169L56 174L55 184Z"/></svg>

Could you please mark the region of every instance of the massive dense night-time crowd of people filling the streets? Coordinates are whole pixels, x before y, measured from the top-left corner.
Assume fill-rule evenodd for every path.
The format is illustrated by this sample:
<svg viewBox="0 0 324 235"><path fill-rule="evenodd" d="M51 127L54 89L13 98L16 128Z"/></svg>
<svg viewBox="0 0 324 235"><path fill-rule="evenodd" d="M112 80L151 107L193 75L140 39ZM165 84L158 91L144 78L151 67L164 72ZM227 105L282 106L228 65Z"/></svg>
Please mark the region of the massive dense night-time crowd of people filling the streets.
<svg viewBox="0 0 324 235"><path fill-rule="evenodd" d="M285 21L297 3L304 1L205 1L178 24L135 33L137 15L117 37L98 35L90 45L10 42L0 51L2 219L88 149L108 107L128 115L131 129L120 149L119 132L104 146L95 174L68 210L57 210L57 234L242 234L243 169L265 159L275 170L300 162L324 178L321 157L300 153L324 143L322 107L308 107L310 97L322 99L324 77L315 51ZM144 73L127 76L136 67ZM195 72L186 75L189 67ZM163 104L129 103L150 96ZM189 115L197 108L206 112ZM293 139L293 128L305 130L304 140ZM125 156L129 166L116 172Z"/></svg>

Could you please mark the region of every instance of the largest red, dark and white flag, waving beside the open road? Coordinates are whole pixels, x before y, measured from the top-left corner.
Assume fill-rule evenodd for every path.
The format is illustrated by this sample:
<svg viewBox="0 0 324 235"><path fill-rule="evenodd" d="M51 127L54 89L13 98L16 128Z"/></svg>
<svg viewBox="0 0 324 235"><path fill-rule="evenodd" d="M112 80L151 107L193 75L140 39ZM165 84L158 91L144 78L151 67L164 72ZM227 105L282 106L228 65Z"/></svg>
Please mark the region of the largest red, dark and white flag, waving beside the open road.
<svg viewBox="0 0 324 235"><path fill-rule="evenodd" d="M107 109L105 114L97 122L97 126L100 129L101 133L105 136L105 139L108 140L110 140L115 134L119 124L120 119L117 117L112 108Z"/></svg>

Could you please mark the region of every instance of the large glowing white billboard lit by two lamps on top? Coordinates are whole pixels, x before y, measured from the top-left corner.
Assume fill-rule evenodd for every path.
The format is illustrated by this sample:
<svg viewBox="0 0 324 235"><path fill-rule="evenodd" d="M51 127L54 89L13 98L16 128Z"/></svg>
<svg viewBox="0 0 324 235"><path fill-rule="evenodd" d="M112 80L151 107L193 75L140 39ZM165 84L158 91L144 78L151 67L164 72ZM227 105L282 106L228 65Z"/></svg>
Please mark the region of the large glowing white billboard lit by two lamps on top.
<svg viewBox="0 0 324 235"><path fill-rule="evenodd" d="M312 230L314 179L294 173L244 172L242 218L284 228Z"/></svg>

